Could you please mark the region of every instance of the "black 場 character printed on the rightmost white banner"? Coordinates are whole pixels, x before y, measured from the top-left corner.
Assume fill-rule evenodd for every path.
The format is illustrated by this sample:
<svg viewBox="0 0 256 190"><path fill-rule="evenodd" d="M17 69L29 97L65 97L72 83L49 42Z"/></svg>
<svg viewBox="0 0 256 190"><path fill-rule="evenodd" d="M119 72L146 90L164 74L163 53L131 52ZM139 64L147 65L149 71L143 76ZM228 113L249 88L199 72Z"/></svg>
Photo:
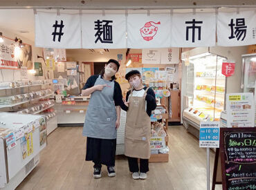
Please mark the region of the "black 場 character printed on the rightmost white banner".
<svg viewBox="0 0 256 190"><path fill-rule="evenodd" d="M237 38L237 41L241 38L242 35L244 35L243 39L241 41L244 41L244 38L246 37L246 22L244 18L236 19L236 23L234 23L234 19L231 19L230 24L231 35L228 37L229 39ZM234 26L235 26L235 35L234 35Z"/></svg>

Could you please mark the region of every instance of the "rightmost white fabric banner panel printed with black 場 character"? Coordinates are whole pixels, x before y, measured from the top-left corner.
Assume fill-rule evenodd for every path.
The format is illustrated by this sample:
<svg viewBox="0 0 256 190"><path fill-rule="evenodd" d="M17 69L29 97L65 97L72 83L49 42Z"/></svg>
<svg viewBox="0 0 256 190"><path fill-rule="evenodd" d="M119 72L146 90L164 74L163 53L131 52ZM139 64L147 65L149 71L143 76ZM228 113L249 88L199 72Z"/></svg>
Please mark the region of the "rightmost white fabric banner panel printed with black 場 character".
<svg viewBox="0 0 256 190"><path fill-rule="evenodd" d="M219 12L217 37L218 46L256 44L255 11Z"/></svg>

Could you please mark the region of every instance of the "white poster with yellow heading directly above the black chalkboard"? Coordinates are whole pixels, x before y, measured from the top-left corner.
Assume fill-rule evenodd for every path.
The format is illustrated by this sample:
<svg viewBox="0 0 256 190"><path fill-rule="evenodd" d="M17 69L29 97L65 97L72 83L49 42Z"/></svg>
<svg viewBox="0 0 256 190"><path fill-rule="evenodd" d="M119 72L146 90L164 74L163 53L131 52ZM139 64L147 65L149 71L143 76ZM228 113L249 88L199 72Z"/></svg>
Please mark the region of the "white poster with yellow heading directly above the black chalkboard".
<svg viewBox="0 0 256 190"><path fill-rule="evenodd" d="M232 93L227 95L228 127L254 127L255 104L253 93Z"/></svg>

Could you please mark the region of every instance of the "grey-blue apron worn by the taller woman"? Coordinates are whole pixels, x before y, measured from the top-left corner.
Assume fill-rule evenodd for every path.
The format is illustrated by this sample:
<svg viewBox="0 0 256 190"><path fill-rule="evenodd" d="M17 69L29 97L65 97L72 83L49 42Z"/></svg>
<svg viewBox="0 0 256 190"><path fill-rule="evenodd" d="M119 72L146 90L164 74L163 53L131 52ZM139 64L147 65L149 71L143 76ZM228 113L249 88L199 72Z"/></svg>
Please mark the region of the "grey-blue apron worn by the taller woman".
<svg viewBox="0 0 256 190"><path fill-rule="evenodd" d="M116 139L116 107L113 101L114 82L98 77L94 85L107 84L91 94L86 111L83 135L100 139Z"/></svg>

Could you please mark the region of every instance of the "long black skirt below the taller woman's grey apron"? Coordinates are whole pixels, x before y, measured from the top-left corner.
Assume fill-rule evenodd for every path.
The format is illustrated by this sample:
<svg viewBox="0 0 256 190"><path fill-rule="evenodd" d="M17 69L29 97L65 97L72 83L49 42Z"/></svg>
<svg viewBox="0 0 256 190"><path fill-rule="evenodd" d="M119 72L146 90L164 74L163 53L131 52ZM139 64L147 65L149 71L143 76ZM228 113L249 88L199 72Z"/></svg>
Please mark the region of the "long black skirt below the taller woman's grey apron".
<svg viewBox="0 0 256 190"><path fill-rule="evenodd" d="M98 139L87 137L86 161L93 161L95 164L104 164L108 167L115 166L116 139Z"/></svg>

